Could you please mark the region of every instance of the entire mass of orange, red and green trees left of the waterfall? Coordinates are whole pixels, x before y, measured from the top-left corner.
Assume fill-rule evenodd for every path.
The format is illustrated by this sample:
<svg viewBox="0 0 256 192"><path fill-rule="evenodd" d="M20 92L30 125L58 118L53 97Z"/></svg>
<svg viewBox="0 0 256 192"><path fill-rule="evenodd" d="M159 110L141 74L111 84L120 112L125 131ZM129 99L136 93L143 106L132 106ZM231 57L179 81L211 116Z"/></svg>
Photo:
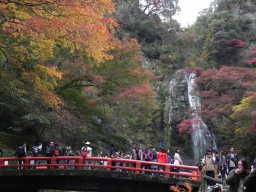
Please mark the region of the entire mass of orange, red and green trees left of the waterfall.
<svg viewBox="0 0 256 192"><path fill-rule="evenodd" d="M60 131L64 142L97 118L113 127L117 118L127 127L150 124L152 74L141 67L137 40L115 37L114 12L111 0L0 1L4 130Z"/></svg>

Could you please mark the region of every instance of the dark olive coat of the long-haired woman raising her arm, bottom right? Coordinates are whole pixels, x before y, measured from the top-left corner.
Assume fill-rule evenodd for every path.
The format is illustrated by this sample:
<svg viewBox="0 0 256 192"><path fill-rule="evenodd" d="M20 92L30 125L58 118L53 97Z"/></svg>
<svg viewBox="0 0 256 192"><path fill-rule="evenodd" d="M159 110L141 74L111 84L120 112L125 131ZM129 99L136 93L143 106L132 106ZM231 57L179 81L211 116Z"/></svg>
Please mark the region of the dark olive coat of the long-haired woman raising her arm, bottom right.
<svg viewBox="0 0 256 192"><path fill-rule="evenodd" d="M228 192L237 192L240 179L248 175L246 172L237 175L235 171L236 170L232 170L230 173L228 173L228 177L226 179L226 183L229 185Z"/></svg>

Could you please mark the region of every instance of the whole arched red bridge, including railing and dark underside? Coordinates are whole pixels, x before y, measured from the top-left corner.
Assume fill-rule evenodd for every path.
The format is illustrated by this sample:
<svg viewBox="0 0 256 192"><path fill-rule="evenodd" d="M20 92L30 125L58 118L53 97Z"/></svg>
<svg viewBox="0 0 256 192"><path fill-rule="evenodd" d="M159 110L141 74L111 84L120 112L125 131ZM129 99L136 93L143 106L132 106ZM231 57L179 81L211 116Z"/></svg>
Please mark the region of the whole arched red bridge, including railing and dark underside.
<svg viewBox="0 0 256 192"><path fill-rule="evenodd" d="M40 163L33 164L35 161ZM51 163L47 164L47 161ZM157 170L145 169L148 165L157 166ZM180 172L173 172L173 168ZM200 175L196 166L130 159L80 156L0 158L1 191L170 191L170 185L183 186L185 182L196 191Z"/></svg>

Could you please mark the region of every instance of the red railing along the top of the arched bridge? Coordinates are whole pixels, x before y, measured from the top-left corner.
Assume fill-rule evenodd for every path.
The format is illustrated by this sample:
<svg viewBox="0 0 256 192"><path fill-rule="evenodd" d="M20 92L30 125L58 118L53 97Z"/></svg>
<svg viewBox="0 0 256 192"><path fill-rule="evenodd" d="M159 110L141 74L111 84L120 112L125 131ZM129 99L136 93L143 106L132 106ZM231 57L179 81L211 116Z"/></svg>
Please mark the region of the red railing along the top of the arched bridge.
<svg viewBox="0 0 256 192"><path fill-rule="evenodd" d="M48 161L48 162L47 162ZM8 162L8 163L6 163ZM22 164L19 164L22 163ZM36 164L35 164L36 163ZM153 169L154 167L154 169ZM1 169L100 169L108 171L131 172L135 174L163 175L164 177L179 177L191 180L201 180L197 166L155 163L152 161L136 161L132 159L105 157L1 157Z"/></svg>

